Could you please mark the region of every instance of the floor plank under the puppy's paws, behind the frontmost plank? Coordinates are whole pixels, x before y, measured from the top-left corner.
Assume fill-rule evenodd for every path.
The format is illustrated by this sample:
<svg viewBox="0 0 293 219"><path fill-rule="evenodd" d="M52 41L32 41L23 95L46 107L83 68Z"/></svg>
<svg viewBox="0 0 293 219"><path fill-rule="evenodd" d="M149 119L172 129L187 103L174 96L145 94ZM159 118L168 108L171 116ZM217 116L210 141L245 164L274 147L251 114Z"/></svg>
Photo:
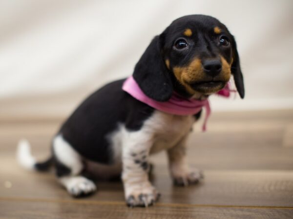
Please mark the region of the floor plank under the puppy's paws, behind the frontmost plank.
<svg viewBox="0 0 293 219"><path fill-rule="evenodd" d="M24 171L4 158L0 172L2 198L72 200L53 174ZM207 170L203 182L188 187L173 186L166 166L156 165L153 175L152 182L162 194L160 203L293 206L293 171ZM124 201L121 182L98 182L97 187L98 192L88 200Z"/></svg>

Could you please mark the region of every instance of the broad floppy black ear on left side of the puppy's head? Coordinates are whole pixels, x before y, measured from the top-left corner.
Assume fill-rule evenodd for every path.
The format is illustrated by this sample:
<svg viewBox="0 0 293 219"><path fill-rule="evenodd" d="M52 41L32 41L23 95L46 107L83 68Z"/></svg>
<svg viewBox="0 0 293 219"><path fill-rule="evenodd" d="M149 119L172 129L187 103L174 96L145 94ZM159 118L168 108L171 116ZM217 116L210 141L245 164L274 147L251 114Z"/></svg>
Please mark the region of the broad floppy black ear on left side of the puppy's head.
<svg viewBox="0 0 293 219"><path fill-rule="evenodd" d="M173 86L162 55L163 39L153 38L134 68L133 78L142 91L156 101L170 99Z"/></svg>

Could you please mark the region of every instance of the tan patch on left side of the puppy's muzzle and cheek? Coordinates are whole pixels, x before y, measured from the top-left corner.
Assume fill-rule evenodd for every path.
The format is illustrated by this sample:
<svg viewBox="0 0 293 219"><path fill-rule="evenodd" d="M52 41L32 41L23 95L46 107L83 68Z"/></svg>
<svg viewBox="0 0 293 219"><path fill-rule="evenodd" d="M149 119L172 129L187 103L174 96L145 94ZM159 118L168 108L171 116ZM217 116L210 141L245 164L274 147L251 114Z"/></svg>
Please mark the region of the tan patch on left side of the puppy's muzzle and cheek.
<svg viewBox="0 0 293 219"><path fill-rule="evenodd" d="M199 81L204 77L204 73L201 67L201 60L195 58L186 67L174 67L173 73L177 80L186 88L190 94L194 94L195 91L188 85L190 82Z"/></svg>

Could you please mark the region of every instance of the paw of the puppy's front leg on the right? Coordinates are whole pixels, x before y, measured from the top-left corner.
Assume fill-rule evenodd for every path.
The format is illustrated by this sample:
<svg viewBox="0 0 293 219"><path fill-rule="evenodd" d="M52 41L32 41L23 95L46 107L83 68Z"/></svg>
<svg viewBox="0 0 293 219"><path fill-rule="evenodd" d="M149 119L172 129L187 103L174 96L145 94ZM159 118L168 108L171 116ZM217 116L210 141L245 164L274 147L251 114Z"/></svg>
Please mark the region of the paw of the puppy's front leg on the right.
<svg viewBox="0 0 293 219"><path fill-rule="evenodd" d="M204 175L201 170L193 170L186 174L173 176L173 183L178 186L187 186L188 184L196 184L203 178Z"/></svg>

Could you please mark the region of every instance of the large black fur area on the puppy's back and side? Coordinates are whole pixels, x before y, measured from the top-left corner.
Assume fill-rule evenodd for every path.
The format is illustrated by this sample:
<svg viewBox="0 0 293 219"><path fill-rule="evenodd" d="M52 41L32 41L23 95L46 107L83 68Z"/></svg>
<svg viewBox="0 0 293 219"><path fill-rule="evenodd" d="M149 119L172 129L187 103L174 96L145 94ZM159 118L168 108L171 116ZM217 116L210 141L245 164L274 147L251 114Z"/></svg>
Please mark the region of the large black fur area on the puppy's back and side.
<svg viewBox="0 0 293 219"><path fill-rule="evenodd" d="M109 135L119 124L139 130L154 109L122 90L125 79L105 85L90 95L63 124L60 133L82 156L111 164Z"/></svg>

